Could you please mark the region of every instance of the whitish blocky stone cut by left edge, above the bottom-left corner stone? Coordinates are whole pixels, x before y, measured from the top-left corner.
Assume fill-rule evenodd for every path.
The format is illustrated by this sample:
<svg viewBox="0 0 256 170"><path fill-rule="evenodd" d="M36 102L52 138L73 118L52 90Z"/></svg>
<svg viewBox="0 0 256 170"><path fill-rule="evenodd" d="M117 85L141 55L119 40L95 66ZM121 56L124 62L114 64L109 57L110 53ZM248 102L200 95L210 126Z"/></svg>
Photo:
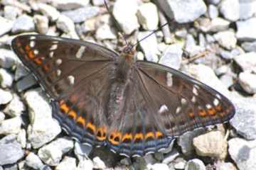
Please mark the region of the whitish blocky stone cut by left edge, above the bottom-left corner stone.
<svg viewBox="0 0 256 170"><path fill-rule="evenodd" d="M3 120L0 124L0 135L17 134L21 130L21 117Z"/></svg>

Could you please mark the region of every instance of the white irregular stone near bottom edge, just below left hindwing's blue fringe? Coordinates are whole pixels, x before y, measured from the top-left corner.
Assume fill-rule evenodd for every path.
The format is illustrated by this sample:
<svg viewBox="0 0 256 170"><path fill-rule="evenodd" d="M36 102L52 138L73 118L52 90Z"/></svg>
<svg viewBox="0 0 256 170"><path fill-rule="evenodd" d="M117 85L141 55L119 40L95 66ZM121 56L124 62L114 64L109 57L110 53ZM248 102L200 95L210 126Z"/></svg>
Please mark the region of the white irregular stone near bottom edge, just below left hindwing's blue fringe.
<svg viewBox="0 0 256 170"><path fill-rule="evenodd" d="M68 138L58 138L57 140L50 142L50 144L41 147L38 150L38 156L44 163L50 166L57 166L60 163L63 154L73 147L74 144L72 140L69 140Z"/></svg>

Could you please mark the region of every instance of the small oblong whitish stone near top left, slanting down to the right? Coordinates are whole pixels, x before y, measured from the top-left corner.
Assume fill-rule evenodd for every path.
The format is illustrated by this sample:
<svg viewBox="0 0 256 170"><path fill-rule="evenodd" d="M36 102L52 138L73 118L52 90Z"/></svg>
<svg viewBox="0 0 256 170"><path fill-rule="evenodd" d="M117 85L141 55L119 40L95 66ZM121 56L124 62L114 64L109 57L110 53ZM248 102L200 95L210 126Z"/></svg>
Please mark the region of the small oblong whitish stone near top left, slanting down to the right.
<svg viewBox="0 0 256 170"><path fill-rule="evenodd" d="M50 21L56 21L60 16L60 12L57 11L56 8L48 4L39 3L38 10L41 11L44 16L47 16Z"/></svg>

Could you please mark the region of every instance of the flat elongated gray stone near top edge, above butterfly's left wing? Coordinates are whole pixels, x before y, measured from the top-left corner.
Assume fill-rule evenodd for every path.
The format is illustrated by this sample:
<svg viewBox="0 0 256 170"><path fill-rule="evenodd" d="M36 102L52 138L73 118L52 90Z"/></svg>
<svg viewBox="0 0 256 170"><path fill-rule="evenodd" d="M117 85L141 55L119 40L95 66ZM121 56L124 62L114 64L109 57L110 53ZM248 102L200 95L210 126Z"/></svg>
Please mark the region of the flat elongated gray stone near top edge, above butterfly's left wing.
<svg viewBox="0 0 256 170"><path fill-rule="evenodd" d="M73 11L64 11L61 14L68 16L74 23L82 23L87 21L97 14L100 13L100 8L97 6L87 6L83 8L78 8Z"/></svg>

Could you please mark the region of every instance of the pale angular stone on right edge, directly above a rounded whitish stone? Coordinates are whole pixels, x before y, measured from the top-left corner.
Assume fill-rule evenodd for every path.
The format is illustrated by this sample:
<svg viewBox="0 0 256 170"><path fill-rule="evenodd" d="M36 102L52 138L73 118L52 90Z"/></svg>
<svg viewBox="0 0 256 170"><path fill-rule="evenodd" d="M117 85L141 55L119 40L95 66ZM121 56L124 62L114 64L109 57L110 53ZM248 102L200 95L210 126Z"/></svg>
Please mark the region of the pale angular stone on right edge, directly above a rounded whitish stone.
<svg viewBox="0 0 256 170"><path fill-rule="evenodd" d="M234 57L235 62L243 71L250 71L256 67L256 52L247 52Z"/></svg>

